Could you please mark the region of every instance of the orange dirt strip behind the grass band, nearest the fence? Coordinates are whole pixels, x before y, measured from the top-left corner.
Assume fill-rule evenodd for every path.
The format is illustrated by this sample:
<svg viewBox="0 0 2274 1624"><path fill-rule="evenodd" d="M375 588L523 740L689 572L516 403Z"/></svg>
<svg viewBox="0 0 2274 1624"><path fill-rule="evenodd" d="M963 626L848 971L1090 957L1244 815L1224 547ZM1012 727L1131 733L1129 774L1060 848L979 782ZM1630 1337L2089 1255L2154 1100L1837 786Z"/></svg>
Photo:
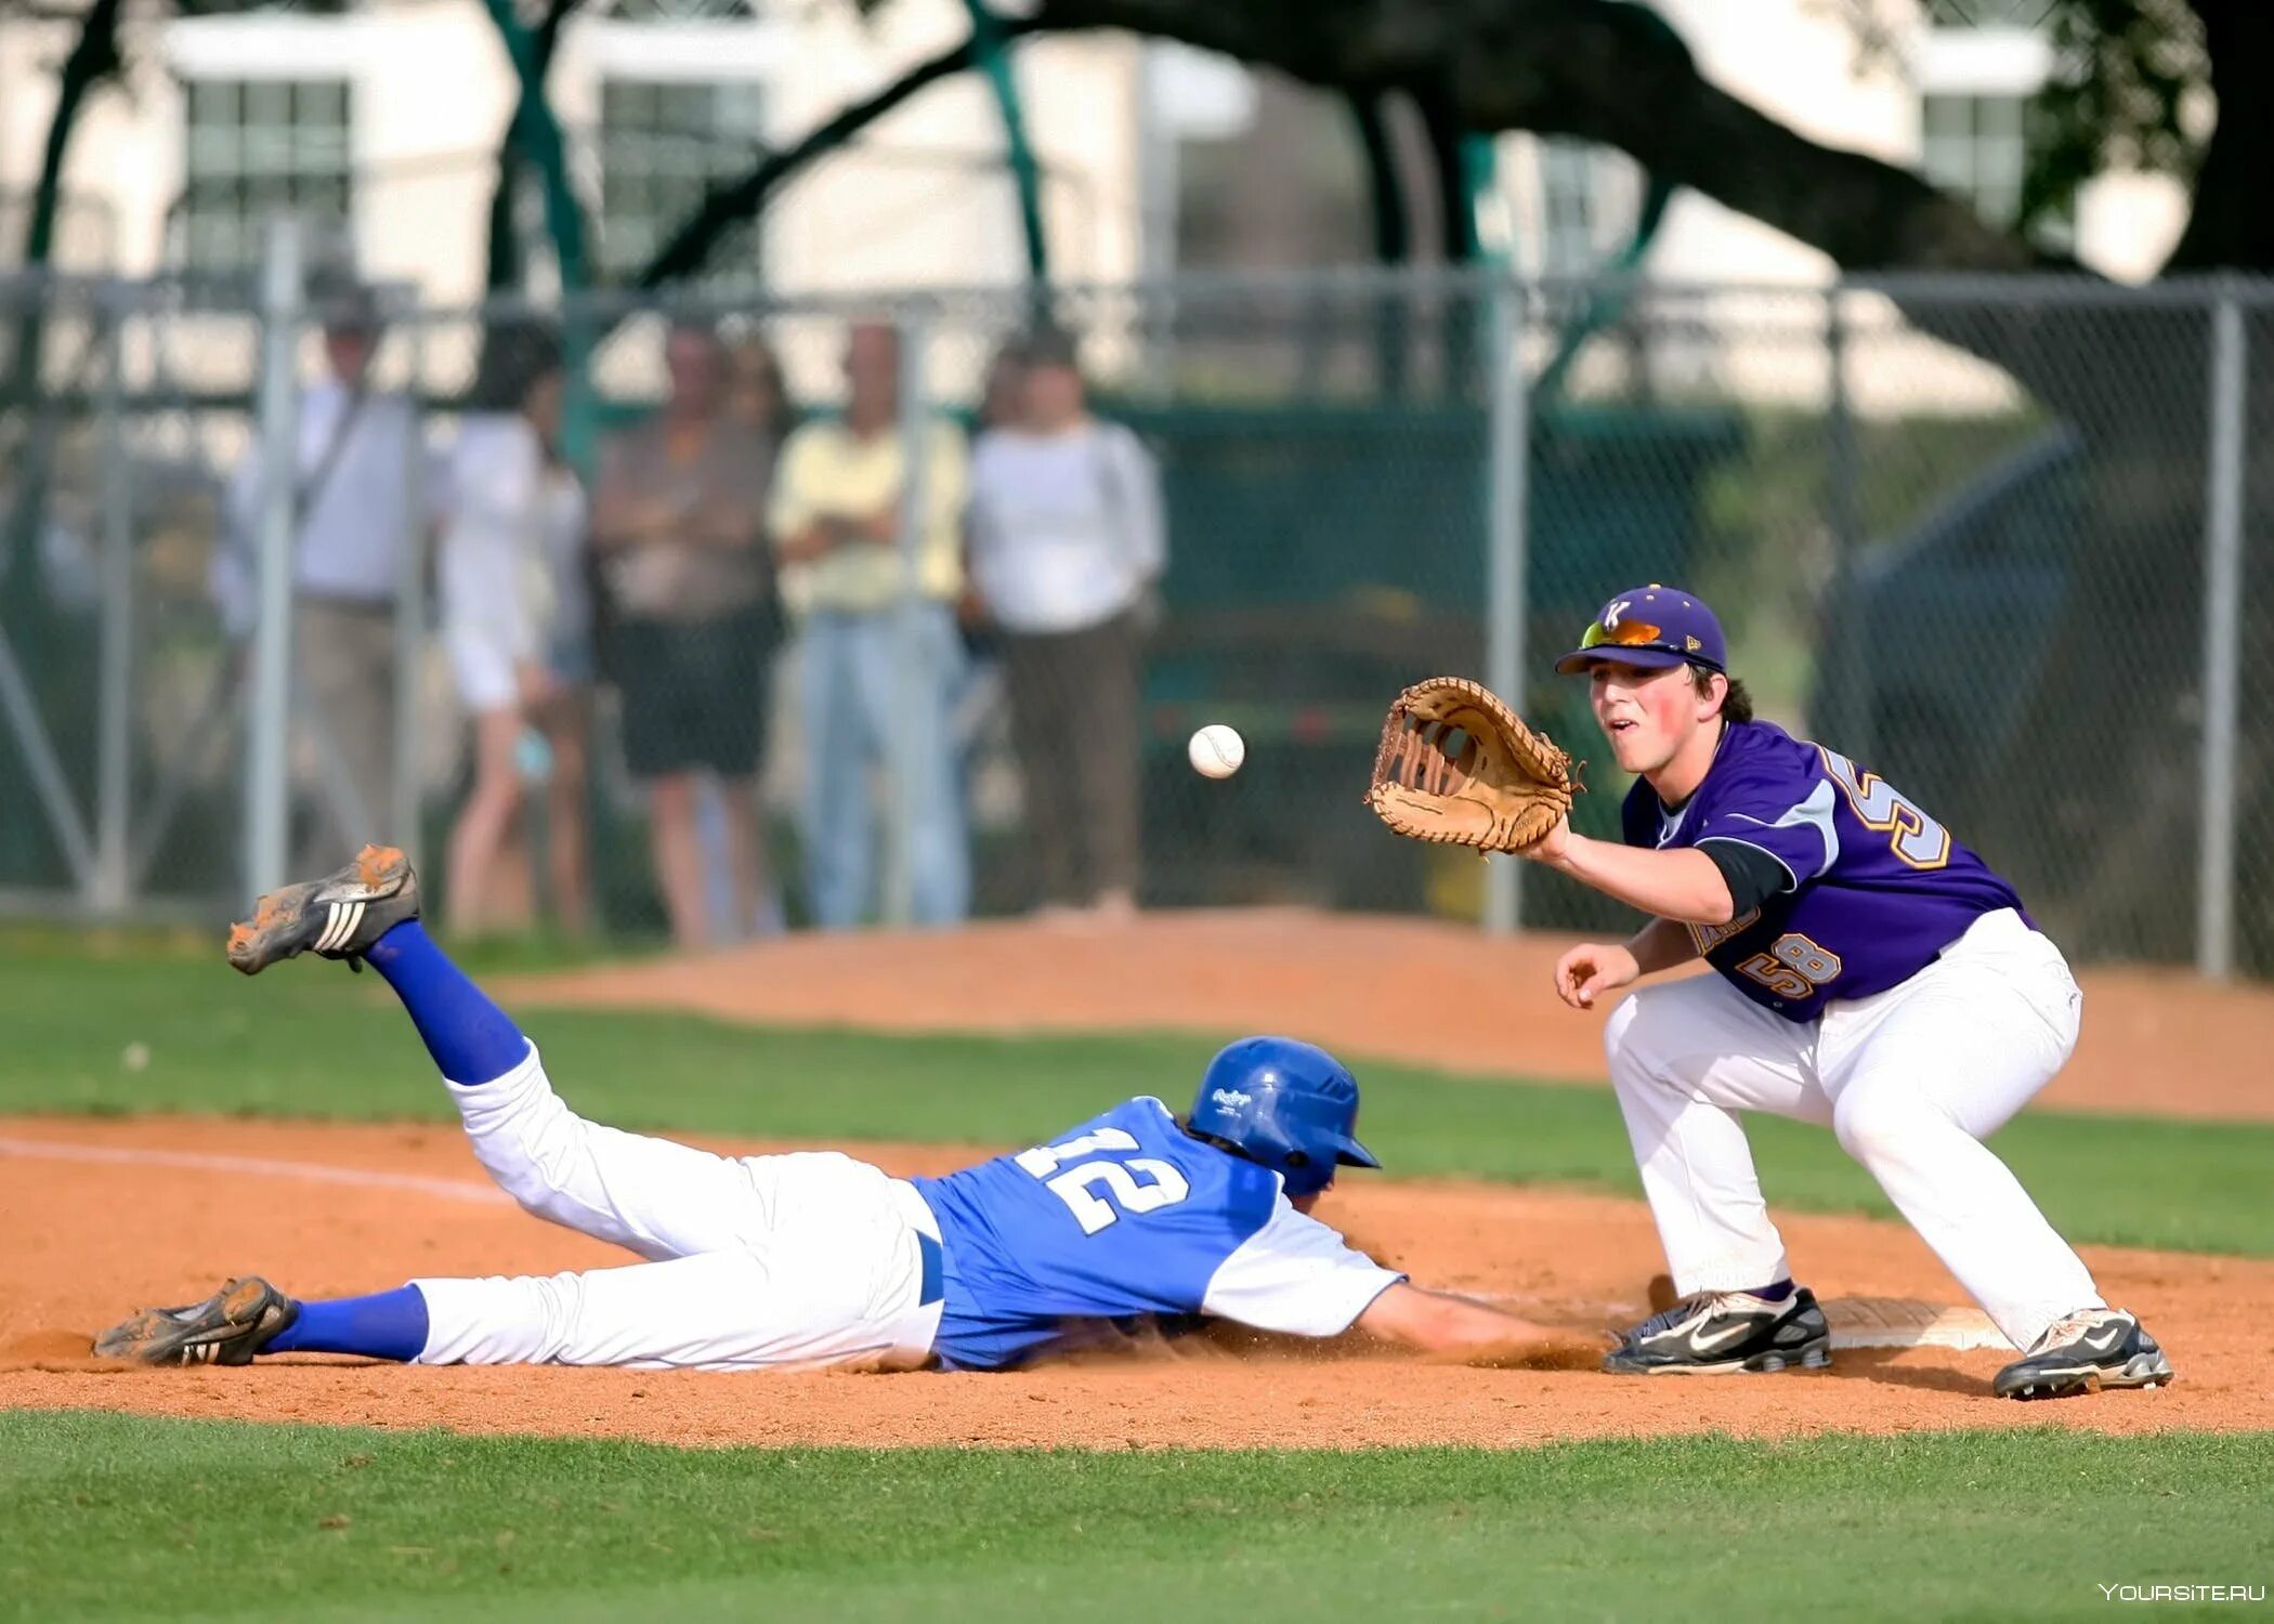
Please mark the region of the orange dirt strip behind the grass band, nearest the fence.
<svg viewBox="0 0 2274 1624"><path fill-rule="evenodd" d="M1610 1005L1549 971L1574 937L1487 939L1421 919L1308 910L1153 914L1128 928L985 923L789 937L703 960L505 983L521 1003L694 1010L875 1030L1278 1030L1460 1074L1592 1083ZM2274 1121L2274 992L2181 971L2085 971L2076 1055L2038 1108ZM1521 1058L1514 1035L1521 1033Z"/></svg>

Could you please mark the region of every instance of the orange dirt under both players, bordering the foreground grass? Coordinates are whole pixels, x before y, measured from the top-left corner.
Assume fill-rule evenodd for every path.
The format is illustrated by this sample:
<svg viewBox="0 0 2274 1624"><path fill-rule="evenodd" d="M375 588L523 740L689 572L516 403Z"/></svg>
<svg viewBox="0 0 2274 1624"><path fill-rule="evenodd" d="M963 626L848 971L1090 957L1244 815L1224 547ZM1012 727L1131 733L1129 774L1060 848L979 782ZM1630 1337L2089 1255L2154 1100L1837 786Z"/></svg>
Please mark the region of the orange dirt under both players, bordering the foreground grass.
<svg viewBox="0 0 2274 1624"><path fill-rule="evenodd" d="M760 1149L728 1146L719 1149ZM964 1155L873 1146L894 1171ZM1351 1178L1323 1217L1419 1278L1512 1296L1576 1335L1642 1312L1658 1260L1637 1203L1458 1183ZM457 1133L259 1121L0 1121L0 1406L96 1406L264 1422L578 1433L673 1444L1528 1444L1728 1431L1897 1433L2056 1424L2269 1428L2263 1312L2274 1262L2088 1249L2113 1301L2172 1349L2167 1392L2015 1406L1987 1397L2008 1356L1842 1353L1828 1374L1633 1381L1590 1369L1460 1369L1151 1349L1007 1376L705 1376L689 1372L402 1369L280 1360L239 1372L102 1372L89 1335L152 1301L259 1269L302 1294L421 1274L605 1267L625 1256L514 1210ZM1903 1228L1792 1219L1826 1296L1953 1303Z"/></svg>

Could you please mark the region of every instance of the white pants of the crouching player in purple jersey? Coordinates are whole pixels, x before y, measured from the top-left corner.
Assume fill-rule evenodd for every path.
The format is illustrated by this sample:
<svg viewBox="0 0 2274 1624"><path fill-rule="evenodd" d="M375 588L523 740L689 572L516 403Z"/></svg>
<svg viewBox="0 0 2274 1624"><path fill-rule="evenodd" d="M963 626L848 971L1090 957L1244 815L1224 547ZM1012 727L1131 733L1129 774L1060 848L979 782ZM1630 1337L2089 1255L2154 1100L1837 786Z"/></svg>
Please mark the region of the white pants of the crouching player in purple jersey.
<svg viewBox="0 0 2274 1624"><path fill-rule="evenodd" d="M1981 1144L2067 1062L2081 1003L2060 948L2010 908L1903 985L1808 1024L1717 973L1635 992L1603 1049L1674 1290L1790 1276L1737 1124L1765 1110L1840 1135L2015 1347L2099 1306L2083 1260Z"/></svg>

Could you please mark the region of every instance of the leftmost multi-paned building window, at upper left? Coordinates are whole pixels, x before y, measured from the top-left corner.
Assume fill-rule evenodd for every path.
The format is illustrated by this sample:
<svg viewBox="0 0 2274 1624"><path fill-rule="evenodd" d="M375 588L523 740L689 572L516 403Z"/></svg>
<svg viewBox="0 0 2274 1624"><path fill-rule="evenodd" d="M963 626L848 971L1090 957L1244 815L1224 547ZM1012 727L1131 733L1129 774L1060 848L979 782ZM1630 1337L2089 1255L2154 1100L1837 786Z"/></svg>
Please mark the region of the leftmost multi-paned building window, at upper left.
<svg viewBox="0 0 2274 1624"><path fill-rule="evenodd" d="M182 252L196 271L259 262L277 209L346 232L355 202L346 80L189 80Z"/></svg>

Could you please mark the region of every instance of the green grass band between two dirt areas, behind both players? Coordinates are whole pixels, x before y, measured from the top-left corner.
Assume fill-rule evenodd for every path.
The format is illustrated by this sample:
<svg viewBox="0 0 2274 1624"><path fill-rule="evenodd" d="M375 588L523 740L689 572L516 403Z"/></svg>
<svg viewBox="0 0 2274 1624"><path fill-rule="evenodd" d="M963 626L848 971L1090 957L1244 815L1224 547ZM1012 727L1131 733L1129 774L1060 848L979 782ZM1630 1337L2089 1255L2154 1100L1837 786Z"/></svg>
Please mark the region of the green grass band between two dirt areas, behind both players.
<svg viewBox="0 0 2274 1624"><path fill-rule="evenodd" d="M878 1037L691 1017L532 1010L555 1085L625 1128L794 1140L1032 1142L1137 1092L1182 1105L1205 1037ZM291 964L243 983L211 953L11 953L0 1112L189 1110L450 1119L377 976ZM148 1051L125 1064L130 1044ZM1394 1174L1637 1192L1608 1089L1362 1064L1364 1137ZM1892 1215L1821 1128L1753 1119L1769 1199ZM1997 1149L2078 1242L2274 1256L2274 1126L2033 1112Z"/></svg>

